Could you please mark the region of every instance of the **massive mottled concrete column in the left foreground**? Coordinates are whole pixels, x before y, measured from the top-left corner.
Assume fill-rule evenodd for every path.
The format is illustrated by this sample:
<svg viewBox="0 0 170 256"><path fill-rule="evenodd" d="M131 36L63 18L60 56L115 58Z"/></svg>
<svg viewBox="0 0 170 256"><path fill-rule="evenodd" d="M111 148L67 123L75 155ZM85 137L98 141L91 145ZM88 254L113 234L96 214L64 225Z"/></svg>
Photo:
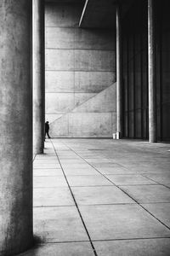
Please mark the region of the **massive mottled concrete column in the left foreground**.
<svg viewBox="0 0 170 256"><path fill-rule="evenodd" d="M0 255L32 244L31 1L0 2Z"/></svg>

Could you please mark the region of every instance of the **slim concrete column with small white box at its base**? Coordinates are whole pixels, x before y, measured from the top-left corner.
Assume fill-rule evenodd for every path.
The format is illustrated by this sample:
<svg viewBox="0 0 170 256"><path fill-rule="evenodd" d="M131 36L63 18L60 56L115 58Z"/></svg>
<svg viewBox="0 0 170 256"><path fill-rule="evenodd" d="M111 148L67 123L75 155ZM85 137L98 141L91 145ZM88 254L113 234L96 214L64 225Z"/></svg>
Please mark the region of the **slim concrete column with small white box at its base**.
<svg viewBox="0 0 170 256"><path fill-rule="evenodd" d="M120 6L116 7L116 138L122 138L122 27Z"/></svg>

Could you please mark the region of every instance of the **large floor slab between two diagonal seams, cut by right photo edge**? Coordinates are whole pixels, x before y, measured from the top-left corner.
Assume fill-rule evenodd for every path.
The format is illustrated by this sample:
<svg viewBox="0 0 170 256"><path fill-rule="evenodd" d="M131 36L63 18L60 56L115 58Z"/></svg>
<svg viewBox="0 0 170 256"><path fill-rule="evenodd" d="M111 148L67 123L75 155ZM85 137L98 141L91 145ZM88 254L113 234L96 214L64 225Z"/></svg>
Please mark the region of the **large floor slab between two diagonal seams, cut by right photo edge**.
<svg viewBox="0 0 170 256"><path fill-rule="evenodd" d="M80 206L92 240L169 237L170 230L139 205Z"/></svg>

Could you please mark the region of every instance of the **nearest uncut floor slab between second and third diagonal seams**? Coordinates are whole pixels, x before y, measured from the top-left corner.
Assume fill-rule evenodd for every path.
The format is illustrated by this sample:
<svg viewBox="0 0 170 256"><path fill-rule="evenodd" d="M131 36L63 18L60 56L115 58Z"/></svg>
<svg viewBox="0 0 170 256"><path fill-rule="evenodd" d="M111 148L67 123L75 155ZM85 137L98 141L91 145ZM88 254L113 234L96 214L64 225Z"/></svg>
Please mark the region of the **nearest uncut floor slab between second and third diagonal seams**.
<svg viewBox="0 0 170 256"><path fill-rule="evenodd" d="M116 185L135 185L135 184L156 184L147 177L141 175L106 175Z"/></svg>

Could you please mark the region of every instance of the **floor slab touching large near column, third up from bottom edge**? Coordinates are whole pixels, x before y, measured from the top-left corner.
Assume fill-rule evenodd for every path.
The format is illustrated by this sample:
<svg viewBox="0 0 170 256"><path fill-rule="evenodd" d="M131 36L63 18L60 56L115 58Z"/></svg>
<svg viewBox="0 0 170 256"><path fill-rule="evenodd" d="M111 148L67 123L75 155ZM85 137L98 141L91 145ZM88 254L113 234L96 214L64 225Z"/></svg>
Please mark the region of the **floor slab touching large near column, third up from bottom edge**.
<svg viewBox="0 0 170 256"><path fill-rule="evenodd" d="M34 189L34 207L55 207L75 205L70 189Z"/></svg>

